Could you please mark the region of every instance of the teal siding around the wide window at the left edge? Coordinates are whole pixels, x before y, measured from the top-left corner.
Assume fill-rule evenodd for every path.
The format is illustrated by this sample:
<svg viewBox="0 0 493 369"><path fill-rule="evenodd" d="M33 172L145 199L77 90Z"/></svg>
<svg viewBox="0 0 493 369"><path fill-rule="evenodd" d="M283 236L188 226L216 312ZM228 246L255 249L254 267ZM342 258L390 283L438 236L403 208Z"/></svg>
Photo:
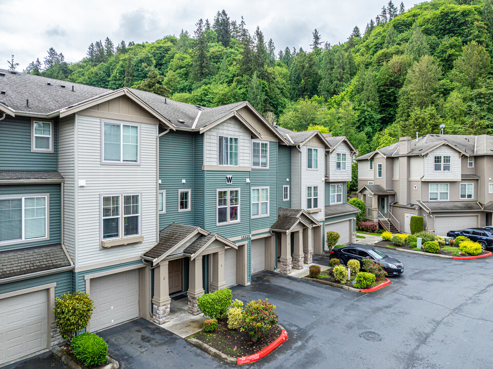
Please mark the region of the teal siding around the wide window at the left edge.
<svg viewBox="0 0 493 369"><path fill-rule="evenodd" d="M1 122L1 121L0 121ZM0 155L1 156L1 155ZM54 185L9 185L0 186L0 195L50 194L50 239L0 246L0 251L17 250L61 242L61 186Z"/></svg>

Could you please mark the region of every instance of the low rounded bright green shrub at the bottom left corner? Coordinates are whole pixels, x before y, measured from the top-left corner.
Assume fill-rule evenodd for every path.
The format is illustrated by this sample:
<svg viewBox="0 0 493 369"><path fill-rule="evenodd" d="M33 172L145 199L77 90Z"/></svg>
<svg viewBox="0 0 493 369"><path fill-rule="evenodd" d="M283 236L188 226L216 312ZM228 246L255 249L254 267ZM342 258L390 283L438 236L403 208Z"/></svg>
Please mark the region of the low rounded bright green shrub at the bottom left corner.
<svg viewBox="0 0 493 369"><path fill-rule="evenodd" d="M100 336L86 332L72 339L70 350L86 366L101 365L107 360L108 344Z"/></svg>

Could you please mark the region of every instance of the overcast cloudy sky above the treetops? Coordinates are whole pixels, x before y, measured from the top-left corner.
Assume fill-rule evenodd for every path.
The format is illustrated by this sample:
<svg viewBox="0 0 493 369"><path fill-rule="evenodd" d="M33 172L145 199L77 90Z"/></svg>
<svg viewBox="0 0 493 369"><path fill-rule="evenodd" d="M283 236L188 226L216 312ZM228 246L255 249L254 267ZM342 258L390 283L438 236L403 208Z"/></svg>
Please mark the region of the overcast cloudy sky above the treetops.
<svg viewBox="0 0 493 369"><path fill-rule="evenodd" d="M87 46L109 36L116 45L122 39L152 42L182 29L193 34L199 18L209 18L225 9L231 19L243 15L252 32L257 25L266 40L272 38L279 49L311 44L311 33L317 28L323 41L344 42L354 26L363 31L370 18L380 13L386 0L319 0L278 1L218 0L135 1L135 0L0 0L0 68L7 67L10 55L23 70L37 57L43 61L46 51L54 47L66 61L83 58ZM399 4L398 2L397 4ZM404 3L407 8L407 4Z"/></svg>

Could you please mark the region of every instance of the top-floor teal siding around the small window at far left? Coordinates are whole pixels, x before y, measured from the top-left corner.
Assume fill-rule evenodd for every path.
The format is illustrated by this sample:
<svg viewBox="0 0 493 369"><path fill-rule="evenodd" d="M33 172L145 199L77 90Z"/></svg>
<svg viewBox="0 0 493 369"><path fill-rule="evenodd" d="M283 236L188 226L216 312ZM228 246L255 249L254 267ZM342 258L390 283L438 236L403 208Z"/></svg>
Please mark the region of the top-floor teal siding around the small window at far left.
<svg viewBox="0 0 493 369"><path fill-rule="evenodd" d="M0 120L0 170L57 170L58 124L53 124L53 153L31 152L31 118Z"/></svg>

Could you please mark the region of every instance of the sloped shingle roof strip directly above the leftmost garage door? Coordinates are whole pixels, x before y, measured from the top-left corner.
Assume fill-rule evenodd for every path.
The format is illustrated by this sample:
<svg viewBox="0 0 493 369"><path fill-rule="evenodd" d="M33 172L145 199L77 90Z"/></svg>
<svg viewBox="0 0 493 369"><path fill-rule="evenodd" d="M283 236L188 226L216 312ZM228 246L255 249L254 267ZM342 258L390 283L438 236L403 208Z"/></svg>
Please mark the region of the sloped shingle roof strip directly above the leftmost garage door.
<svg viewBox="0 0 493 369"><path fill-rule="evenodd" d="M0 252L0 279L70 267L61 244Z"/></svg>

